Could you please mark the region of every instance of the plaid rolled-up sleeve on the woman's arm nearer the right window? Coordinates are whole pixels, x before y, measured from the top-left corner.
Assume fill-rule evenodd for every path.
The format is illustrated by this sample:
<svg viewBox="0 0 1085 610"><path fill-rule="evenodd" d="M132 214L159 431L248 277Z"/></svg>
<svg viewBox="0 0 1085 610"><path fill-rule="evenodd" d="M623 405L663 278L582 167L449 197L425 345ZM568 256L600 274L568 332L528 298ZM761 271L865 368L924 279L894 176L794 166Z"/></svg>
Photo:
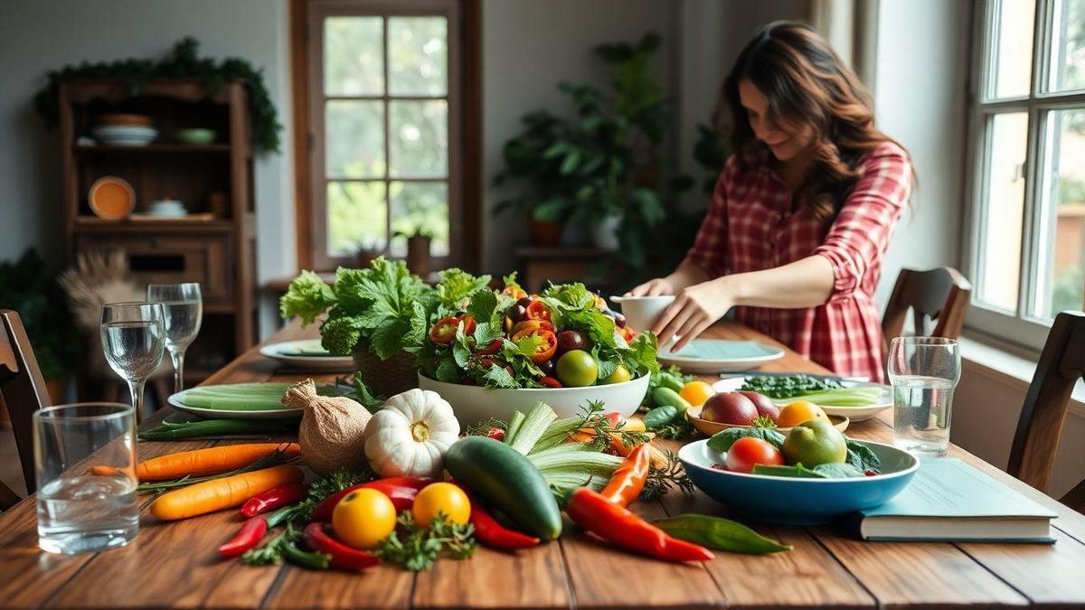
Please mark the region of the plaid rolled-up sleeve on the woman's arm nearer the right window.
<svg viewBox="0 0 1085 610"><path fill-rule="evenodd" d="M833 288L828 303L843 301L863 283L868 268L881 257L911 191L911 164L899 147L884 143L863 164L863 175L814 254L832 265Z"/></svg>

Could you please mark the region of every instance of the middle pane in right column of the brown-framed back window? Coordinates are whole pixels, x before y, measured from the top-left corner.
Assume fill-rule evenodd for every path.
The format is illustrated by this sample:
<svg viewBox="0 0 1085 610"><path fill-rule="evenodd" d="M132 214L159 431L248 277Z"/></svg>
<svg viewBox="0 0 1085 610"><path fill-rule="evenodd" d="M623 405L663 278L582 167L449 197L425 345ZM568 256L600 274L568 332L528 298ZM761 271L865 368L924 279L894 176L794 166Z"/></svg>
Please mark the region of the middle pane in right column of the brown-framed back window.
<svg viewBox="0 0 1085 610"><path fill-rule="evenodd" d="M448 102L390 102L391 156L395 178L448 175Z"/></svg>

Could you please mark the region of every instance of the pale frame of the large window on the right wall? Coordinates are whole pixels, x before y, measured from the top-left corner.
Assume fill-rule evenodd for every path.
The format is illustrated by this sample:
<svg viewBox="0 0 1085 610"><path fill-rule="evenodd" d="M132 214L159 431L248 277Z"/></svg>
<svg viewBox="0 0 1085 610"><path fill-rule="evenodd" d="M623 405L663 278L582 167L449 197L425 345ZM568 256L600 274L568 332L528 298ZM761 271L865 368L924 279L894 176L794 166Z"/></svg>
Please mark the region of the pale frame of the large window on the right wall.
<svg viewBox="0 0 1085 610"><path fill-rule="evenodd" d="M1036 0L1033 22L1033 56L1030 73L1030 89L1025 96L1003 99L987 99L985 89L993 82L997 69L997 56L993 49L993 27L997 26L998 0L985 0L973 13L972 66L970 71L969 102L967 120L968 151L966 163L966 231L961 259L963 267L973 278L976 290L969 307L967 328L1022 345L1038 352L1047 340L1052 320L1032 315L1032 305L1037 295L1042 254L1036 244L1044 243L1045 224L1041 217L1044 207L1043 192L1045 171L1051 162L1050 151L1043 150L1045 135L1050 130L1050 113L1058 110L1085 106L1085 91L1045 91L1051 61L1051 38L1054 35L1054 9L1057 0ZM987 162L991 156L990 122L998 114L1024 112L1029 127L1025 144L1024 202L1021 236L1021 260L1019 268L1018 301L1014 312L999 309L981 303L979 294L983 285L982 252L984 247L983 228L988 212L986 202ZM1034 247L1035 245L1035 247ZM1085 285L1082 287L1085 293Z"/></svg>

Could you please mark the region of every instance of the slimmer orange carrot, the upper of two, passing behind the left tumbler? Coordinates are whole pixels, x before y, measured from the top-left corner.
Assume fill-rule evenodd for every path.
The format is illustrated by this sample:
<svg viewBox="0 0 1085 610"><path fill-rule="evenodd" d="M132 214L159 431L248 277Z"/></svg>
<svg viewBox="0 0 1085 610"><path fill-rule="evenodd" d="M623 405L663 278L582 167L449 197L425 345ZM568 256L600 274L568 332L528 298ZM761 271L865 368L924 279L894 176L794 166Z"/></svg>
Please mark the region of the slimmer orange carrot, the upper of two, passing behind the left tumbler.
<svg viewBox="0 0 1085 610"><path fill-rule="evenodd" d="M181 452L156 457L136 465L136 476L141 482L169 481L181 476L218 474L244 468L269 456L276 449L285 452L286 458L302 453L297 443L250 443L246 445L225 445L209 449Z"/></svg>

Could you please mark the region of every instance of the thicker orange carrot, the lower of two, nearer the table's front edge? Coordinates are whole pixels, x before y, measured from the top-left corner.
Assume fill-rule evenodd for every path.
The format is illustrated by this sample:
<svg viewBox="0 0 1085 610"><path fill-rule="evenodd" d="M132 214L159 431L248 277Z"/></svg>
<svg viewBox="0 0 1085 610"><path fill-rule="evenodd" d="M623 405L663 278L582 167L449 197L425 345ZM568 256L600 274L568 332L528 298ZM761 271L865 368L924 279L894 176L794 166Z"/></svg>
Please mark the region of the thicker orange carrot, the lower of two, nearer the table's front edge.
<svg viewBox="0 0 1085 610"><path fill-rule="evenodd" d="M299 483L303 479L305 473L297 467L276 466L204 481L162 494L151 505L151 514L163 521L188 519L196 514L241 506L256 494L263 494L279 485Z"/></svg>

